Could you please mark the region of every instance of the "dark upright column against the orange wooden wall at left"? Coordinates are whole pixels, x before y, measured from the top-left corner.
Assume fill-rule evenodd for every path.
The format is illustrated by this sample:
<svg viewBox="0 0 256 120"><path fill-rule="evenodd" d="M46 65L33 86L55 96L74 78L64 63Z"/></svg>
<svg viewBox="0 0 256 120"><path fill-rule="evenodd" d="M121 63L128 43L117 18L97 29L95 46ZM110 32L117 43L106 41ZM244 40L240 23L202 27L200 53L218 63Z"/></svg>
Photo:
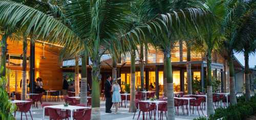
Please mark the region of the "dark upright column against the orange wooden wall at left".
<svg viewBox="0 0 256 120"><path fill-rule="evenodd" d="M30 93L34 93L34 81L35 81L35 43L30 42Z"/></svg>

